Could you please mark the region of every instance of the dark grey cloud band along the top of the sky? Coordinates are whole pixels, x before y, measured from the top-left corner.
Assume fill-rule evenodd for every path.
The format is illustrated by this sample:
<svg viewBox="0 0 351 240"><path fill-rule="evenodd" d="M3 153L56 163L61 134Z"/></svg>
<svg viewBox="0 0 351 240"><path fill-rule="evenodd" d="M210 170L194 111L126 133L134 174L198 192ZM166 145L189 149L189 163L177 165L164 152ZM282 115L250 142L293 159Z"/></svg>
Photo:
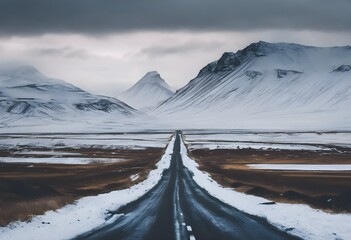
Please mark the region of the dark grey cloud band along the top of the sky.
<svg viewBox="0 0 351 240"><path fill-rule="evenodd" d="M0 34L351 30L349 0L0 0Z"/></svg>

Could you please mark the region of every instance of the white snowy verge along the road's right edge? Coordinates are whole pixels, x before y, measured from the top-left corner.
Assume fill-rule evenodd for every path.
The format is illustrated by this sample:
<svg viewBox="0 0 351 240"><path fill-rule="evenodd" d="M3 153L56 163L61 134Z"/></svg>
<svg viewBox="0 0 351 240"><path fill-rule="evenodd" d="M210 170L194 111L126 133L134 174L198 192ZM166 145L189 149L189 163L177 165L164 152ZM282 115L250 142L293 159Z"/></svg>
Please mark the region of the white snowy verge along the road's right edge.
<svg viewBox="0 0 351 240"><path fill-rule="evenodd" d="M200 171L198 164L189 158L183 139L180 154L184 166L194 174L193 179L200 187L243 212L265 218L279 229L303 239L351 239L351 214L329 214L303 204L262 205L260 203L268 200L225 188Z"/></svg>

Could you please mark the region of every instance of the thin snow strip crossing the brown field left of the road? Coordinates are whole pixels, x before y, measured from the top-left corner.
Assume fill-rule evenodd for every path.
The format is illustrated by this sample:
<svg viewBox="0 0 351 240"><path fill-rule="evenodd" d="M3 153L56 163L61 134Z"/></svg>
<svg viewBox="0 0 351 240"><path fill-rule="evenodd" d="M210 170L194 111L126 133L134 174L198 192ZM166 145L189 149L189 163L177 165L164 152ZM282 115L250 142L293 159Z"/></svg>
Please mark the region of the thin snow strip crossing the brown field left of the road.
<svg viewBox="0 0 351 240"><path fill-rule="evenodd" d="M0 162L7 163L48 163L48 164L91 164L91 163L114 163L125 161L121 158L57 158L57 157L30 157L30 158L18 158L18 157L0 157Z"/></svg>

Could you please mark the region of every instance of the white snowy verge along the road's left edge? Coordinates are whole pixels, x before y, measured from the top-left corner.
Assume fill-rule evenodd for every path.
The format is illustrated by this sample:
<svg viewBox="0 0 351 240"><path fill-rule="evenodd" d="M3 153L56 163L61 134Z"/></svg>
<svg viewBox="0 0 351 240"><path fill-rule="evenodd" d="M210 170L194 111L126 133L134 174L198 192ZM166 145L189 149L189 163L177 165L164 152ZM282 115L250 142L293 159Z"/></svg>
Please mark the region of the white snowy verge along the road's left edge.
<svg viewBox="0 0 351 240"><path fill-rule="evenodd" d="M157 168L150 171L143 182L128 189L81 198L76 204L48 211L44 215L34 217L30 222L12 223L0 228L0 239L71 239L106 224L105 218L109 210L116 210L140 198L160 181L163 171L170 167L174 141L175 136L157 163Z"/></svg>

